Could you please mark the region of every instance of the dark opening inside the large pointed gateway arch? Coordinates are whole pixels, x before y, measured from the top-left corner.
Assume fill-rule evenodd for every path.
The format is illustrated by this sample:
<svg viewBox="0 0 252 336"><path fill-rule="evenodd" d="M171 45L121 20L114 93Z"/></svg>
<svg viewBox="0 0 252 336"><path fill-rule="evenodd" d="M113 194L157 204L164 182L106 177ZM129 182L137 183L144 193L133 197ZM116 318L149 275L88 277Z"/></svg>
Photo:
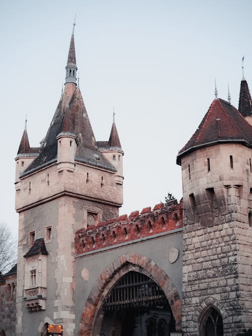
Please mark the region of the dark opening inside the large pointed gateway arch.
<svg viewBox="0 0 252 336"><path fill-rule="evenodd" d="M168 336L175 320L162 289L147 275L129 271L110 290L102 304L100 334Z"/></svg>

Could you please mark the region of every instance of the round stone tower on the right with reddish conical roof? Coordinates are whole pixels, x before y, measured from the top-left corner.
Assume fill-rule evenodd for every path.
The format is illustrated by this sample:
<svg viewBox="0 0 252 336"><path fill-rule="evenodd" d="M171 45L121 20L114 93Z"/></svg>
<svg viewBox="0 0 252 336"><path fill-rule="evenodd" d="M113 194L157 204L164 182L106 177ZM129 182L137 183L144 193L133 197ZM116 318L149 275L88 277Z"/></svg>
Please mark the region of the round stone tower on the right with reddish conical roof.
<svg viewBox="0 0 252 336"><path fill-rule="evenodd" d="M216 90L177 156L184 204L183 335L233 336L252 327L251 160L252 127Z"/></svg>

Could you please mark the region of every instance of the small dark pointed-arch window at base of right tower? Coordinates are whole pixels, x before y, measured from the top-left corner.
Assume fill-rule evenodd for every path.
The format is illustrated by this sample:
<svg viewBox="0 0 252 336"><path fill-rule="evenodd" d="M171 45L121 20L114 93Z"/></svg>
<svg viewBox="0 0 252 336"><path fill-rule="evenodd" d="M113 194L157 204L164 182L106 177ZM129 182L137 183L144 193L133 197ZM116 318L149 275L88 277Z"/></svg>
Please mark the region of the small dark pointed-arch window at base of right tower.
<svg viewBox="0 0 252 336"><path fill-rule="evenodd" d="M213 307L208 310L203 323L204 336L223 336L223 320Z"/></svg>

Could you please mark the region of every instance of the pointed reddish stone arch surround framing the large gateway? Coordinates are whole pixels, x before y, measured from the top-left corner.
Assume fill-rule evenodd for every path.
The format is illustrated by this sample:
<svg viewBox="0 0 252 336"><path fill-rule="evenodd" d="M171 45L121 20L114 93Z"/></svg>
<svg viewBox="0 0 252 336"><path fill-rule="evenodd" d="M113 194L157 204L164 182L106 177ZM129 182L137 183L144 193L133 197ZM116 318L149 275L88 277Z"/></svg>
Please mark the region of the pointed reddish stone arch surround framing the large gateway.
<svg viewBox="0 0 252 336"><path fill-rule="evenodd" d="M170 304L176 322L176 329L181 329L181 301L169 276L153 260L132 252L123 254L114 260L97 279L83 309L79 326L79 336L99 334L103 319L103 300L118 279L131 270L151 277L163 290Z"/></svg>

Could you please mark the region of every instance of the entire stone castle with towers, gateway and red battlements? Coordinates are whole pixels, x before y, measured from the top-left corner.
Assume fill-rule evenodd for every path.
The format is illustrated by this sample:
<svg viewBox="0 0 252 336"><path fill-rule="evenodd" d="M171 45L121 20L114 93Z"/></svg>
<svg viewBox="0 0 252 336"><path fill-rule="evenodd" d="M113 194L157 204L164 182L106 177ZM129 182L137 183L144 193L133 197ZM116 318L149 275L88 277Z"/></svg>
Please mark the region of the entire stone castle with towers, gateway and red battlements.
<svg viewBox="0 0 252 336"><path fill-rule="evenodd" d="M75 24L74 24L75 28ZM0 278L2 335L231 336L252 328L252 100L217 96L177 155L183 199L129 216L115 121L96 141L77 81L40 147L16 160L18 267Z"/></svg>

